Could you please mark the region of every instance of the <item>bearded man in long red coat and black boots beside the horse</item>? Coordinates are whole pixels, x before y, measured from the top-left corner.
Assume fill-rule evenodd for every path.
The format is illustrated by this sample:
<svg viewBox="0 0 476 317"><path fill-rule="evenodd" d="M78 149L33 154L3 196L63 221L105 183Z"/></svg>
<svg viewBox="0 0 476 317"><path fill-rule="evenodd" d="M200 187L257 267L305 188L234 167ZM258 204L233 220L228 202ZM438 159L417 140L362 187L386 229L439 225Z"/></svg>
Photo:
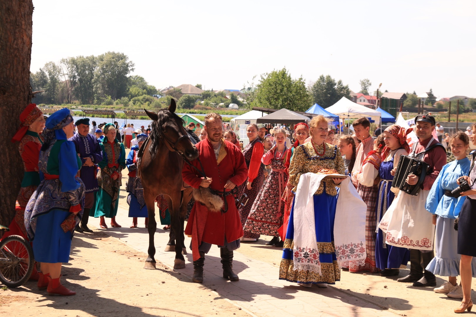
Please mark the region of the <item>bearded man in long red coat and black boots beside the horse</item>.
<svg viewBox="0 0 476 317"><path fill-rule="evenodd" d="M220 115L205 116L207 138L195 145L199 156L191 162L193 167L184 164L182 170L183 180L194 188L195 205L185 234L192 237L192 280L198 283L203 282L205 253L212 244L220 248L223 277L238 280L231 263L233 250L239 248L243 228L231 190L246 181L248 168L238 147L223 139L222 126ZM210 204L211 200L215 201L214 205Z"/></svg>

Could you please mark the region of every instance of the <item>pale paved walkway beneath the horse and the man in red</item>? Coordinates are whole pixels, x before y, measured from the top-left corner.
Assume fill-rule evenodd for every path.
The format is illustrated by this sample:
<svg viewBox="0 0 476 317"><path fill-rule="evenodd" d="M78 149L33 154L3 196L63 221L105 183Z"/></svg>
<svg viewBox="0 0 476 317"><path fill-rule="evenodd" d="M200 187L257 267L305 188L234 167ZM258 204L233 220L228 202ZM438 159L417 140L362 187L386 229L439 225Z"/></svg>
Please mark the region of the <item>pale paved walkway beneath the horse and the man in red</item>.
<svg viewBox="0 0 476 317"><path fill-rule="evenodd" d="M121 191L123 195L123 192ZM132 248L147 254L148 233L144 228L144 218L139 218L139 227L130 229L131 218L127 217L127 204L121 196L117 221L122 228L109 228L111 236L128 244ZM99 227L99 219L90 218L91 225ZM108 224L109 225L109 224ZM175 252L164 252L169 240L169 231L158 225L155 234L156 260L173 267ZM102 231L102 230L101 230ZM189 246L190 238L185 237ZM192 255L189 248L185 255L186 268L177 270L191 279L193 275ZM138 272L142 267L138 267ZM235 251L233 270L239 275L238 282L230 282L221 277L219 249L213 246L205 256L203 285L216 291L221 298L227 298L239 307L260 317L286 316L398 316L391 311L335 288L303 288L296 283L278 279L278 268L274 265L251 259Z"/></svg>

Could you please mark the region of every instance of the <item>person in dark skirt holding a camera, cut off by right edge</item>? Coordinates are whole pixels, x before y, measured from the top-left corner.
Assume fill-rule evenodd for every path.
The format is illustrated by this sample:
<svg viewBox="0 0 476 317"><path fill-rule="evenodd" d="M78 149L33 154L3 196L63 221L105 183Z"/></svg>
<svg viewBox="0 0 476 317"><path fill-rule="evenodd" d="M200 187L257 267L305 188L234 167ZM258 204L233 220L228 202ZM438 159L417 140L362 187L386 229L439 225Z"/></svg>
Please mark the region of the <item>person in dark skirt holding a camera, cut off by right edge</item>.
<svg viewBox="0 0 476 317"><path fill-rule="evenodd" d="M476 123L471 127L473 134L469 136L473 145L476 145ZM475 276L473 257L476 257L476 164L475 151L471 152L471 166L469 168L469 176L462 176L456 182L458 185L462 184L464 179L471 189L460 192L461 196L466 197L463 202L463 207L459 213L458 223L458 251L461 255L459 262L459 271L461 274L461 287L463 288L463 301L460 306L456 308L455 313L462 313L466 309L471 311L473 301L471 300L471 277ZM467 175L467 174L466 174Z"/></svg>

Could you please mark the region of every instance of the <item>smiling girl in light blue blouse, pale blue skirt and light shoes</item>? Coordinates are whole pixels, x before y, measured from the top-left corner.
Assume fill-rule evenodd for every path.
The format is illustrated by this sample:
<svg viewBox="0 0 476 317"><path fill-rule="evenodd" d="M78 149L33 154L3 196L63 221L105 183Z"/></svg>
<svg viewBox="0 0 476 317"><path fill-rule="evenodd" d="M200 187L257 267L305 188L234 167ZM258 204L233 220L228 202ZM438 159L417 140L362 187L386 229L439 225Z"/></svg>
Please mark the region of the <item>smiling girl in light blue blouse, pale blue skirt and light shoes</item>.
<svg viewBox="0 0 476 317"><path fill-rule="evenodd" d="M435 258L426 269L448 277L447 282L434 289L436 293L446 294L449 298L463 298L463 290L456 283L460 255L456 252L458 232L454 229L454 223L466 200L460 196L457 180L469 172L470 162L466 157L468 136L458 131L451 135L450 144L456 160L443 166L426 199L426 210L433 213L433 224L436 225ZM476 273L476 259L473 265Z"/></svg>

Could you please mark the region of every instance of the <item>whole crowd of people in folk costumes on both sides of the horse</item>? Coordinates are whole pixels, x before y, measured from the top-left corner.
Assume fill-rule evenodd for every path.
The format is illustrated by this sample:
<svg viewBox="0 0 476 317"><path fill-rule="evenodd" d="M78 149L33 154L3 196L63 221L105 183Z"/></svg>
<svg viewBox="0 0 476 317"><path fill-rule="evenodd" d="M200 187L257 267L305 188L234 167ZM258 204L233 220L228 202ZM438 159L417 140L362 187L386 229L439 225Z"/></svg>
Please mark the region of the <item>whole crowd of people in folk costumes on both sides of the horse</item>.
<svg viewBox="0 0 476 317"><path fill-rule="evenodd" d="M130 227L138 227L138 218L145 218L147 227L137 165L150 130L90 124L88 118L73 122L66 108L45 121L34 104L25 108L20 122L12 142L20 143L25 173L8 234L31 241L40 262L40 271L34 270L31 278L40 289L74 295L60 283L73 232L92 232L89 216L99 218L100 228L108 228L105 218L111 227L120 227L115 217L125 168ZM185 164L182 171L184 182L197 191L185 228L192 237L193 280L203 281L205 254L215 244L223 277L237 281L233 251L241 242L253 243L264 235L272 237L266 245L283 250L279 279L322 288L339 281L341 269L398 276L410 261L409 274L398 282L436 287L435 274L448 277L434 291L462 299L455 312L471 310L476 153L471 160L467 155L469 144L476 145L476 124L447 140L431 115L417 115L414 128L379 127L375 139L367 118L352 125L354 135L335 134L321 115L291 131L249 124L244 149L220 115L206 115L203 127L187 125L188 139L199 151L199 161ZM435 129L440 140L433 137ZM410 146L412 130L418 142ZM455 161L446 163L443 140ZM128 155L125 148L130 148ZM405 175L408 185L419 188L417 195L392 186L402 155L429 166L421 179ZM198 174L200 169L205 177ZM226 207L203 201L210 197L204 188L211 195L219 193ZM163 197L157 203L161 222L169 224Z"/></svg>

